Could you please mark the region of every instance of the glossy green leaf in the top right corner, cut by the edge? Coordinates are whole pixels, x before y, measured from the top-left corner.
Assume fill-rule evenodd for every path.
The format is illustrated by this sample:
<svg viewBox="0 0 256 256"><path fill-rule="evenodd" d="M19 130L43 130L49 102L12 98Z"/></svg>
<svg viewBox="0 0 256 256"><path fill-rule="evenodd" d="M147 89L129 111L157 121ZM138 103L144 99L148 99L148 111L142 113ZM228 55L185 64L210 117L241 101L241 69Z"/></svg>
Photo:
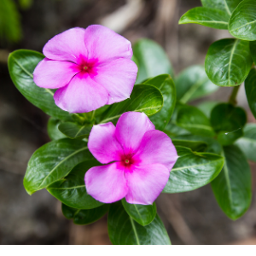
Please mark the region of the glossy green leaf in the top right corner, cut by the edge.
<svg viewBox="0 0 256 256"><path fill-rule="evenodd" d="M230 18L229 31L235 38L256 40L255 0L244 0L236 7Z"/></svg>

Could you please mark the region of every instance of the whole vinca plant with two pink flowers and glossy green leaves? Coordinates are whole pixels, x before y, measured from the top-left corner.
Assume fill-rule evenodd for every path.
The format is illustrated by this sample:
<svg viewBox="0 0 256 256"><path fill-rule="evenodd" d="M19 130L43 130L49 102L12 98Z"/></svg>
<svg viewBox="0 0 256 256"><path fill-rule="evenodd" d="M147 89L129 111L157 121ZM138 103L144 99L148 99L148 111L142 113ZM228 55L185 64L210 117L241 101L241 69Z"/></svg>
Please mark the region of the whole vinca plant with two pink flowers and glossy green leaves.
<svg viewBox="0 0 256 256"><path fill-rule="evenodd" d="M211 183L228 218L247 212L256 124L247 124L236 95L244 82L256 117L256 0L201 3L179 23L226 29L233 38L210 46L205 67L177 77L160 45L141 39L131 48L100 25L56 35L44 55L9 55L16 88L50 116L51 142L32 154L24 177L29 195L47 189L74 224L108 214L113 244L171 244L154 202L160 193ZM233 87L229 102L189 105L218 86Z"/></svg>

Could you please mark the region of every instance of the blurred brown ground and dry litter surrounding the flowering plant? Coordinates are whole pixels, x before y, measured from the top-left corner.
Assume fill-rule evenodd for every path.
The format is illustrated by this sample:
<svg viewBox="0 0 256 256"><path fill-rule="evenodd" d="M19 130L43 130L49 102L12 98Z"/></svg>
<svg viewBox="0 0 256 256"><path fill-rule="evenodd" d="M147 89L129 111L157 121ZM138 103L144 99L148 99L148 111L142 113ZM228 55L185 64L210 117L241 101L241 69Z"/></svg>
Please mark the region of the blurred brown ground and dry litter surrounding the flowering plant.
<svg viewBox="0 0 256 256"><path fill-rule="evenodd" d="M107 217L76 226L61 213L61 203L44 189L30 196L23 188L26 164L32 153L49 142L49 117L26 101L9 78L7 59L15 49L42 52L55 34L74 26L108 26L134 43L151 38L166 49L176 74L204 64L213 41L229 38L227 31L177 22L200 0L0 0L0 243L110 244ZM230 89L221 88L204 100L227 101ZM194 103L198 103L194 102ZM247 106L244 89L238 105ZM176 195L160 195L160 218L172 244L256 244L256 164L253 201L236 222L227 218L210 185Z"/></svg>

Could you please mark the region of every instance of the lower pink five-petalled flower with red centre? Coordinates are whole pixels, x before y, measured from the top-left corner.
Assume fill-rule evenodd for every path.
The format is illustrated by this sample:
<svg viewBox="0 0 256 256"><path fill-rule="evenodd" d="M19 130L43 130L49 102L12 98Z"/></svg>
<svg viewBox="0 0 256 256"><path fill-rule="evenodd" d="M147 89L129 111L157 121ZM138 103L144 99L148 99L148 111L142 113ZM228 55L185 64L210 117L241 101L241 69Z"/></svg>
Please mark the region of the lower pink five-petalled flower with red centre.
<svg viewBox="0 0 256 256"><path fill-rule="evenodd" d="M177 160L170 137L138 112L123 113L116 127L94 125L88 148L96 160L108 164L90 168L84 177L87 193L104 203L125 197L132 204L152 204Z"/></svg>

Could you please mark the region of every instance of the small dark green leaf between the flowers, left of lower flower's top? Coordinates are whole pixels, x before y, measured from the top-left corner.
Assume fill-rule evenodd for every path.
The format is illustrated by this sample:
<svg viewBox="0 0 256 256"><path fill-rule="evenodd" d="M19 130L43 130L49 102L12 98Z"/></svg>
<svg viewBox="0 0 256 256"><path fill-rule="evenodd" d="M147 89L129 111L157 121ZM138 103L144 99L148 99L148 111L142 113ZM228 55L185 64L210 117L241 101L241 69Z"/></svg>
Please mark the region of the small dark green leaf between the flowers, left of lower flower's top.
<svg viewBox="0 0 256 256"><path fill-rule="evenodd" d="M79 125L73 122L62 122L61 125L58 126L59 131L71 139L82 139L84 137L88 137L91 128L92 125Z"/></svg>

